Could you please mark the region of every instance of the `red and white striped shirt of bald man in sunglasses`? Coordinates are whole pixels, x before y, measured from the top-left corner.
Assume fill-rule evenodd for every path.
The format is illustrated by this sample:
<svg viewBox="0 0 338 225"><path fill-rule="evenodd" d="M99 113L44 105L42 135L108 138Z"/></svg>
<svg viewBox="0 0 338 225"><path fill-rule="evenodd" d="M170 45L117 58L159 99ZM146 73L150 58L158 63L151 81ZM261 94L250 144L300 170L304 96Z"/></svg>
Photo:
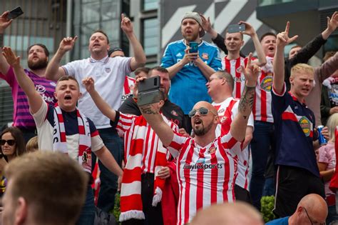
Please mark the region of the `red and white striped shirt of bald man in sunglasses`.
<svg viewBox="0 0 338 225"><path fill-rule="evenodd" d="M180 188L177 224L187 224L200 208L235 200L239 146L240 142L230 132L205 147L174 132L168 150L177 157Z"/></svg>

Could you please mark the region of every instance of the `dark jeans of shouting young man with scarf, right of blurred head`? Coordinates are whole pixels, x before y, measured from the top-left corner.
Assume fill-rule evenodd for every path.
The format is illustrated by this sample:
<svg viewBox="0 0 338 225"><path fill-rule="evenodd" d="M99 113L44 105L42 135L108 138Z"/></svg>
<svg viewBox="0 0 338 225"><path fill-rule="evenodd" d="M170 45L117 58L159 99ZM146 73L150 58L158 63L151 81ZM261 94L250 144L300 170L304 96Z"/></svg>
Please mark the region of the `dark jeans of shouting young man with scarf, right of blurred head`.
<svg viewBox="0 0 338 225"><path fill-rule="evenodd" d="M95 219L94 195L91 185L88 185L86 201L82 207L81 214L76 221L76 225L93 225Z"/></svg>

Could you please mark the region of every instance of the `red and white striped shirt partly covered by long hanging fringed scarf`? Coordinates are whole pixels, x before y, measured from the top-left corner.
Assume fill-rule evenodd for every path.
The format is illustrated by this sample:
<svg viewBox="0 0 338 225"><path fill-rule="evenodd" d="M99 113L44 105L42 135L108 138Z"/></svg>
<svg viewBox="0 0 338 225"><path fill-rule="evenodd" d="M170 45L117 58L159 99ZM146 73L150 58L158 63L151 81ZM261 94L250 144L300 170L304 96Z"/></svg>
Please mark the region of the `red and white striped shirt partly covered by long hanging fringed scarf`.
<svg viewBox="0 0 338 225"><path fill-rule="evenodd" d="M163 115L162 115L163 116ZM155 153L163 146L162 141L155 134L155 131L150 128L148 123L144 123L143 116L135 116L120 113L116 130L119 136L124 138L124 160L128 161L130 147L137 144L139 140L143 140L143 154L141 173L155 173ZM178 131L178 126L163 116L163 120L168 124L173 131ZM145 124L145 125L144 125ZM169 159L170 154L167 154Z"/></svg>

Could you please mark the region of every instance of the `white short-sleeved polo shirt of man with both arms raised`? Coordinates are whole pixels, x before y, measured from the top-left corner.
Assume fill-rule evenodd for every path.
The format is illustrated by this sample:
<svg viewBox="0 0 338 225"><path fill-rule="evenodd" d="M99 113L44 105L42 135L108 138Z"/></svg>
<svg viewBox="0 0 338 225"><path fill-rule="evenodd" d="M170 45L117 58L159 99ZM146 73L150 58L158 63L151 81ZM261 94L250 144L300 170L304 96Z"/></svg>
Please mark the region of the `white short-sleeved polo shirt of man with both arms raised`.
<svg viewBox="0 0 338 225"><path fill-rule="evenodd" d="M82 85L82 79L91 76L95 81L95 89L98 94L113 109L121 106L123 83L126 74L130 74L129 57L108 57L101 60L92 58L71 61L62 66L68 76L73 76L80 84L81 98L78 100L78 109L88 118L94 121L98 129L111 127L108 117L103 116L96 107L91 95Z"/></svg>

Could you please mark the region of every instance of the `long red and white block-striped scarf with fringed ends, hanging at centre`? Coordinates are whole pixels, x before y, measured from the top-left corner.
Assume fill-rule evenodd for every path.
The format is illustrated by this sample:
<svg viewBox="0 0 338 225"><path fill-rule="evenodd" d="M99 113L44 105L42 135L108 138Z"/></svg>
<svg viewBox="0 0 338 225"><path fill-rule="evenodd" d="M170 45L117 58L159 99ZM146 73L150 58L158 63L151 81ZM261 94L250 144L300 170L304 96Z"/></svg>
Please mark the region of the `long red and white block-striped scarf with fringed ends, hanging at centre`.
<svg viewBox="0 0 338 225"><path fill-rule="evenodd" d="M141 198L141 165L143 146L145 146L144 127L149 125L143 116L138 116L134 123L133 137L130 143L129 154L126 157L126 167L123 171L120 221L126 221L128 219L145 219ZM140 134L138 134L138 131L140 131ZM162 199L162 190L165 186L165 179L160 179L156 174L158 174L158 171L160 171L162 166L167 164L168 160L166 156L167 149L163 147L162 141L158 139L158 149L155 155L153 206L157 206L158 202Z"/></svg>

